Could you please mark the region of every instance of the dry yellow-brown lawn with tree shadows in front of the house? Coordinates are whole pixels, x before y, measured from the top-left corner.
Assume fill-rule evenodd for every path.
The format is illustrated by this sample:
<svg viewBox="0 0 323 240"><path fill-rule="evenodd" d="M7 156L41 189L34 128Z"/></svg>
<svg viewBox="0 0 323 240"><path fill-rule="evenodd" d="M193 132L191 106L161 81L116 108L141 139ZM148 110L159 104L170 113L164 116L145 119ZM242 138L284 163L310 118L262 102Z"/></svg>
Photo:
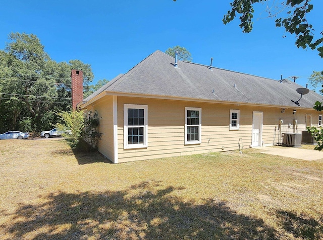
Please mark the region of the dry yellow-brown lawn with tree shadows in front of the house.
<svg viewBox="0 0 323 240"><path fill-rule="evenodd" d="M110 164L3 140L1 239L321 239L323 161L257 149Z"/></svg>

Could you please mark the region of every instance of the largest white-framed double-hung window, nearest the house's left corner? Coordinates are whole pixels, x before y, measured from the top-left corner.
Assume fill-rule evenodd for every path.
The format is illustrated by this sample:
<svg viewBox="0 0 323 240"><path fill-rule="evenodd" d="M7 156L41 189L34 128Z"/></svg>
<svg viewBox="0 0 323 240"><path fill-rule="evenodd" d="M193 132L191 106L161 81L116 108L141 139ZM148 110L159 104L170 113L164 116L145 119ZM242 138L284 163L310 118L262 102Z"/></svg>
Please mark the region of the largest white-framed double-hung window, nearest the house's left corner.
<svg viewBox="0 0 323 240"><path fill-rule="evenodd" d="M124 105L124 148L148 146L148 106Z"/></svg>

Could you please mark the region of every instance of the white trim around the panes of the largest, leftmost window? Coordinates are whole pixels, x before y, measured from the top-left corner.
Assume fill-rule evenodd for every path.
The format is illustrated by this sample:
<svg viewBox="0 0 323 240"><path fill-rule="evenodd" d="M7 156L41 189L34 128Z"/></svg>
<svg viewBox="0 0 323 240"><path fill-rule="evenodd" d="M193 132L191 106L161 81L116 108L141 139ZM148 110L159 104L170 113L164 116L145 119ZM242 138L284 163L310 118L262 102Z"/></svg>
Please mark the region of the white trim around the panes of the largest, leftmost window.
<svg viewBox="0 0 323 240"><path fill-rule="evenodd" d="M144 125L143 125L143 144L128 144L128 108L143 109ZM124 149L145 148L148 147L148 105L124 104L123 107L123 132L124 132ZM140 126L136 126L140 127Z"/></svg>

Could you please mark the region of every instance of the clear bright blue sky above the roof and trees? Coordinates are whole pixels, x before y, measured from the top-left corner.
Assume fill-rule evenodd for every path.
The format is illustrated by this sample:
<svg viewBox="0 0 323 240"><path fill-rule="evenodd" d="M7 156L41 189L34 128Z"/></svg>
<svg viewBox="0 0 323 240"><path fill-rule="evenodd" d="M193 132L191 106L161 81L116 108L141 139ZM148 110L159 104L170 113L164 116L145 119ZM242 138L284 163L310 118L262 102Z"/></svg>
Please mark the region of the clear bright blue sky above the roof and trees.
<svg viewBox="0 0 323 240"><path fill-rule="evenodd" d="M297 48L295 37L267 18L264 4L256 6L251 33L242 33L239 19L224 25L230 2L3 1L0 49L11 32L35 34L53 60L90 64L93 83L111 80L155 50L165 52L176 45L185 47L196 63L208 65L213 57L215 67L273 79L298 76L302 86L313 70L323 70L318 52ZM308 20L318 36L323 30L323 1L311 3L314 10Z"/></svg>

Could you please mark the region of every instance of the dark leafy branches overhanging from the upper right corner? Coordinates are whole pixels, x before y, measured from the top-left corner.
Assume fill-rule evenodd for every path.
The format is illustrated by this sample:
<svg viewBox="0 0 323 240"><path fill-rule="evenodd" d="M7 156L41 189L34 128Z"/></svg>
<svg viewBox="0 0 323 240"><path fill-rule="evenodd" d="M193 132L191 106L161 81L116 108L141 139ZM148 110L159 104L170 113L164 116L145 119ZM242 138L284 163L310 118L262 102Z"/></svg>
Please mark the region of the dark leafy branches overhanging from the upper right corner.
<svg viewBox="0 0 323 240"><path fill-rule="evenodd" d="M174 2L176 0L173 0ZM240 15L240 28L245 33L249 33L253 27L253 6L257 3L268 3L268 0L234 0L231 10L223 18L223 23L230 23L235 19L236 15ZM323 57L323 31L319 37L314 39L313 25L308 23L307 16L313 9L313 5L309 4L310 0L279 0L274 1L274 5L266 11L268 17L275 17L276 26L284 27L287 32L296 36L295 45L297 47L317 49L318 55ZM280 14L287 14L287 17L278 17Z"/></svg>

